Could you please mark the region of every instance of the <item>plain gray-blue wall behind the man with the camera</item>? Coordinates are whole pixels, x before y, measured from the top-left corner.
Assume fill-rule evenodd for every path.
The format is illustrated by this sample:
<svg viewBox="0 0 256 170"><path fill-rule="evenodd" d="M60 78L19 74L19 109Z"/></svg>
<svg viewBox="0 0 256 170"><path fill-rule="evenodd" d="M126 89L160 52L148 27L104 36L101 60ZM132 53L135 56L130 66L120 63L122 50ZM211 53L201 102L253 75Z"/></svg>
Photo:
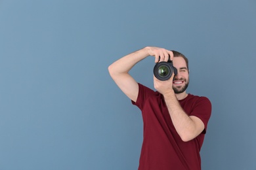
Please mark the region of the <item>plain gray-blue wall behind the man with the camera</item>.
<svg viewBox="0 0 256 170"><path fill-rule="evenodd" d="M255 170L255 30L254 0L0 1L0 169L137 169L140 110L108 65L160 46L212 102L202 168ZM131 74L153 88L153 66Z"/></svg>

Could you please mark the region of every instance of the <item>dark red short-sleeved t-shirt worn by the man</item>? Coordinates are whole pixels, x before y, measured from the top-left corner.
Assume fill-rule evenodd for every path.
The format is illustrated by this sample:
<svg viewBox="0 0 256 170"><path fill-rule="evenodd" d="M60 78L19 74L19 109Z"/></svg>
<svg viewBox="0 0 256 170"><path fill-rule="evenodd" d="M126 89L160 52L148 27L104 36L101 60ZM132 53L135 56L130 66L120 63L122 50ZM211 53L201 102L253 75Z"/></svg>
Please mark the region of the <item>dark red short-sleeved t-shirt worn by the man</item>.
<svg viewBox="0 0 256 170"><path fill-rule="evenodd" d="M132 101L142 111L144 123L139 170L201 169L200 149L211 116L211 102L192 94L179 102L189 116L197 116L205 125L203 132L188 142L181 140L173 126L163 95L139 84L137 101Z"/></svg>

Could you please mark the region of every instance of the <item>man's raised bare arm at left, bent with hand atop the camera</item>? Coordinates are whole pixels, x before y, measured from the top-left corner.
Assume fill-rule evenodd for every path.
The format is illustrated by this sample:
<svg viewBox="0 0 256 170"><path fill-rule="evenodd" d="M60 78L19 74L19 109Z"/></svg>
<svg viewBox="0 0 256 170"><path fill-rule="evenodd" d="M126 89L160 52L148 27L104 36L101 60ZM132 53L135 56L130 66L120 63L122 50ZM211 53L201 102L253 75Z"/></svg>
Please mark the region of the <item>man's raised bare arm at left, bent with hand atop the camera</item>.
<svg viewBox="0 0 256 170"><path fill-rule="evenodd" d="M125 93L125 95L127 95L127 97L135 102L137 101L139 86L136 80L129 75L129 71L136 63L148 56L157 56L155 62L167 61L167 56L171 56L171 58L173 58L173 52L165 50L164 48L147 46L118 59L108 67L110 76L112 76L117 86L123 91L123 93Z"/></svg>

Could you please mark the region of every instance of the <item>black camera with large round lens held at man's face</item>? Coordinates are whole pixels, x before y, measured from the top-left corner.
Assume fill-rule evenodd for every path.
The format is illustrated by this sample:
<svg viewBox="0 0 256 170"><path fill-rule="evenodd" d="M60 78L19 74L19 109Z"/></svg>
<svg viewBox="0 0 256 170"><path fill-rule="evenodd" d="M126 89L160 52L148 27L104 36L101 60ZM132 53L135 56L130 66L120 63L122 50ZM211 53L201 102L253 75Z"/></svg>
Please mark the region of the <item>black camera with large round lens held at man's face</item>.
<svg viewBox="0 0 256 170"><path fill-rule="evenodd" d="M161 61L156 63L154 67L154 75L161 81L169 80L173 73L177 75L177 69L173 66L173 61L170 59L167 62Z"/></svg>

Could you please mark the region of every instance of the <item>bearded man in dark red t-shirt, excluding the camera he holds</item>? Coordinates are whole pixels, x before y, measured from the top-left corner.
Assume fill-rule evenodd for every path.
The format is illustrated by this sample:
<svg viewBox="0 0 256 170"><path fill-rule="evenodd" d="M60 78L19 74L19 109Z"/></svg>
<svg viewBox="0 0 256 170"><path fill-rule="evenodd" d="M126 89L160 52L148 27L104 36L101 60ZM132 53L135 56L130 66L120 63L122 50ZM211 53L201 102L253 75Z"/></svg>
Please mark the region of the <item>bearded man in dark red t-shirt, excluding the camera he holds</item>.
<svg viewBox="0 0 256 170"><path fill-rule="evenodd" d="M161 81L154 76L156 92L139 84L129 70L139 61L154 56L155 62L173 61L177 75ZM201 169L200 148L211 116L206 97L186 93L188 60L176 51L147 46L108 67L117 86L142 111L143 143L139 170Z"/></svg>

